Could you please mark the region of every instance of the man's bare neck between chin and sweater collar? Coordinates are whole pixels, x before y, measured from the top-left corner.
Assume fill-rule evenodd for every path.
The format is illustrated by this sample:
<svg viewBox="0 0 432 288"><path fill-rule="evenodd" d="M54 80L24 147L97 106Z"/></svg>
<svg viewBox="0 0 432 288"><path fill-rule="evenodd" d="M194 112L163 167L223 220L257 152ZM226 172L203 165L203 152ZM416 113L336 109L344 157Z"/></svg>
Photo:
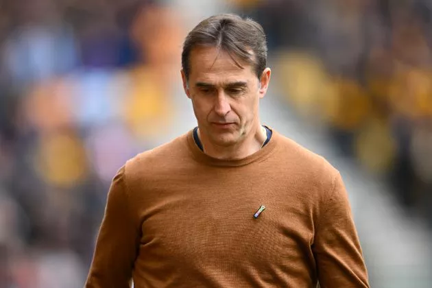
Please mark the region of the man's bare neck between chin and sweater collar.
<svg viewBox="0 0 432 288"><path fill-rule="evenodd" d="M214 145L210 141L206 141L206 137L202 136L200 129L198 129L198 136L204 153L208 156L221 160L238 160L259 151L267 139L267 132L260 123L257 123L244 139L230 146Z"/></svg>

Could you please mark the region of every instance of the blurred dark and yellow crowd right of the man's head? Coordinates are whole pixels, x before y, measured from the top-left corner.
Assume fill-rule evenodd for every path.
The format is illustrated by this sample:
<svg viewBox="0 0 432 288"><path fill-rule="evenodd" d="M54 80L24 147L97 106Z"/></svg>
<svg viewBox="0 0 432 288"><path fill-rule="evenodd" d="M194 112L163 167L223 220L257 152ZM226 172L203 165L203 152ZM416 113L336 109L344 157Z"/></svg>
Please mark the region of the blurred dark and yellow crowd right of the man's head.
<svg viewBox="0 0 432 288"><path fill-rule="evenodd" d="M288 106L432 227L432 2L235 2L263 23Z"/></svg>

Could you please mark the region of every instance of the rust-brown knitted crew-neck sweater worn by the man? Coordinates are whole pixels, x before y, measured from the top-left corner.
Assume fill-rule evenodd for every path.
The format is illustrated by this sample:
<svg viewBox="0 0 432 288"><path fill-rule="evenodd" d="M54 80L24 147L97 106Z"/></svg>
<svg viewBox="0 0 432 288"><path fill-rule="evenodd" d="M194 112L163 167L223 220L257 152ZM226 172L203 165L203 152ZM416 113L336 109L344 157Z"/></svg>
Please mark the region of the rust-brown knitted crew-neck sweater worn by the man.
<svg viewBox="0 0 432 288"><path fill-rule="evenodd" d="M276 131L231 161L189 132L119 170L86 287L131 278L136 288L369 287L339 173Z"/></svg>

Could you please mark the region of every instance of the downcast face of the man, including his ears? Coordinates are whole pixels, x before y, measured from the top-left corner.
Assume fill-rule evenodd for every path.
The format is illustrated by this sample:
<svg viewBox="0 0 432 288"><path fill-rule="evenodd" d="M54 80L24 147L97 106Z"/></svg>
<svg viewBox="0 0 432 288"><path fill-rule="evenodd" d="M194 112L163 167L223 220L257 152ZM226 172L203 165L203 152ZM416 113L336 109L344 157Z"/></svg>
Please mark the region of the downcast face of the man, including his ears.
<svg viewBox="0 0 432 288"><path fill-rule="evenodd" d="M270 71L265 69L259 80L254 67L237 61L243 69L223 50L195 47L189 81L182 71L200 134L213 145L235 145L259 123L259 99L267 91Z"/></svg>

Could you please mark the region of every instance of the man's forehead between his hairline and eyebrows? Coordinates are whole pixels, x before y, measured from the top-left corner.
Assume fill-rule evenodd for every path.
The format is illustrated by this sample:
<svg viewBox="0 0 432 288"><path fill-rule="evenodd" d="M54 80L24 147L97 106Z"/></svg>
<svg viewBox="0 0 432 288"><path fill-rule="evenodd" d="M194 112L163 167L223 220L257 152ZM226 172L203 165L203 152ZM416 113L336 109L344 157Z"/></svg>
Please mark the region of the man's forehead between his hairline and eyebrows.
<svg viewBox="0 0 432 288"><path fill-rule="evenodd" d="M235 57L235 56L233 56ZM236 61L241 65L236 63ZM251 64L216 47L195 47L190 56L190 80L202 82L248 81L256 77Z"/></svg>

